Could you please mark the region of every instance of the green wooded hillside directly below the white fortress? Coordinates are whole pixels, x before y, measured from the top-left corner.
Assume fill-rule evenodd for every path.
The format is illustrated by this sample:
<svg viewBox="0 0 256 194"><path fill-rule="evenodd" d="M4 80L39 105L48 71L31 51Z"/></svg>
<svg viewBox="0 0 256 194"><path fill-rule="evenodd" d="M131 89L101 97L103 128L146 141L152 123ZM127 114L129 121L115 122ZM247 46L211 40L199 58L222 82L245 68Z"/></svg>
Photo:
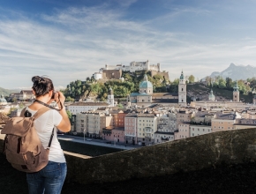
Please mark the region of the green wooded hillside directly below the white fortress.
<svg viewBox="0 0 256 194"><path fill-rule="evenodd" d="M116 98L125 98L130 93L139 91L139 82L143 80L145 73L148 80L153 83L155 93L168 92L166 85L169 84L169 79L165 79L162 74L151 76L151 71L124 72L124 82L120 79L109 79L104 82L96 81L94 78L87 78L87 81L76 80L72 81L63 92L68 101L87 97L106 101L111 87Z"/></svg>

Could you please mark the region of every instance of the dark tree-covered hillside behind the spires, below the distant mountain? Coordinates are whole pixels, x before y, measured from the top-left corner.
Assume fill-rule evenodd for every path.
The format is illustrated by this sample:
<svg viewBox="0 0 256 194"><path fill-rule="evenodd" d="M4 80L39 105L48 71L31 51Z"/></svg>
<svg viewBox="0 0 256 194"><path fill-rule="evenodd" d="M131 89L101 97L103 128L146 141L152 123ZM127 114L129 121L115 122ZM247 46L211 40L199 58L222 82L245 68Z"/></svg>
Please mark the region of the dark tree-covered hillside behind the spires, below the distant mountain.
<svg viewBox="0 0 256 194"><path fill-rule="evenodd" d="M192 97L196 97L197 101L208 100L210 91L211 88L207 87L201 82L188 84L187 101L192 101ZM230 101L233 99L233 90L214 87L213 92L215 94L215 100L217 101ZM240 101L244 101L245 103L252 103L252 95L240 93Z"/></svg>

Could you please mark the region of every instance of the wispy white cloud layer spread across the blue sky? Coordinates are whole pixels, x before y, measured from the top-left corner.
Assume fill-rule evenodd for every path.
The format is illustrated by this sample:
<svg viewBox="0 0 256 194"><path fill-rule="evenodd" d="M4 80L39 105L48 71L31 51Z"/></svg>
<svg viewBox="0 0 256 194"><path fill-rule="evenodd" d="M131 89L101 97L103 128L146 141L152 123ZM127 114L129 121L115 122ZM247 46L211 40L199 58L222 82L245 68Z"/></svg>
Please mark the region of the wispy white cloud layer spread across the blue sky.
<svg viewBox="0 0 256 194"><path fill-rule="evenodd" d="M125 9L134 3L120 2L122 9L109 4L73 6L38 15L37 19L29 19L24 12L18 12L21 17L15 19L2 16L0 65L6 86L30 86L34 75L49 75L56 86L66 86L76 79L85 80L105 63L129 65L147 59L161 63L170 79L178 78L182 69L185 74L203 78L224 70L231 62L255 63L252 35L233 40L215 34L205 41L207 34L200 30L198 34L178 30L184 14L213 17L215 11L174 7L154 19L135 21L124 17Z"/></svg>

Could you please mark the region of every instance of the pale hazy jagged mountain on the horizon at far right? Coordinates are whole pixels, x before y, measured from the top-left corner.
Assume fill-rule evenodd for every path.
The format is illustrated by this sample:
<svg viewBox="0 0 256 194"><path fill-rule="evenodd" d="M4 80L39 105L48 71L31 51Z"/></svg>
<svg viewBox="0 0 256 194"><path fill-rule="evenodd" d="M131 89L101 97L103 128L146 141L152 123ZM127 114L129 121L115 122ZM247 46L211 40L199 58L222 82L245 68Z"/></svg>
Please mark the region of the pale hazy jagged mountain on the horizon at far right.
<svg viewBox="0 0 256 194"><path fill-rule="evenodd" d="M252 67L251 65L236 65L234 63L230 63L230 66L222 71L222 72L212 72L210 77L214 78L216 76L221 76L222 78L232 78L233 80L256 77L256 67Z"/></svg>

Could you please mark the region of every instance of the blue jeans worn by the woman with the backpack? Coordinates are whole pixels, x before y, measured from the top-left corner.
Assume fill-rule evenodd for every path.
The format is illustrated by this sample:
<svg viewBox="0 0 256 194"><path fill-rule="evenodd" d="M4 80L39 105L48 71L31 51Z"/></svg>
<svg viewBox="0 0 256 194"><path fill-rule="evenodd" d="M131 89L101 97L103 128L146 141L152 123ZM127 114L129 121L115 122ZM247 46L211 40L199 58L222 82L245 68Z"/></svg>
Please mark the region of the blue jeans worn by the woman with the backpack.
<svg viewBox="0 0 256 194"><path fill-rule="evenodd" d="M29 194L61 193L67 173L66 163L49 161L45 168L36 173L26 173Z"/></svg>

